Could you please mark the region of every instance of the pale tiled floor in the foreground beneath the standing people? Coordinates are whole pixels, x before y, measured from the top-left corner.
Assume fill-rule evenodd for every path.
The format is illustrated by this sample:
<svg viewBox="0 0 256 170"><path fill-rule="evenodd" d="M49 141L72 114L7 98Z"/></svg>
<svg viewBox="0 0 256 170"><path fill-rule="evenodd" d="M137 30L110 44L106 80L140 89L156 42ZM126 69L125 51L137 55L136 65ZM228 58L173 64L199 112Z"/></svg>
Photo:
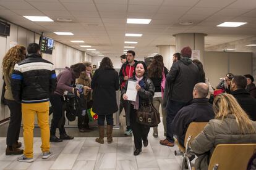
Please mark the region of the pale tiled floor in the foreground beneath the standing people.
<svg viewBox="0 0 256 170"><path fill-rule="evenodd" d="M116 169L116 170L178 170L181 169L181 156L174 156L177 147L159 144L164 139L163 126L160 124L159 137L148 134L148 147L142 148L139 156L134 156L132 137L116 137L113 144L98 144L95 137L75 137L74 140L52 143L53 155L42 160L40 155L41 139L35 138L33 163L20 163L18 156L6 156L6 138L0 137L0 169ZM23 143L23 139L20 138Z"/></svg>

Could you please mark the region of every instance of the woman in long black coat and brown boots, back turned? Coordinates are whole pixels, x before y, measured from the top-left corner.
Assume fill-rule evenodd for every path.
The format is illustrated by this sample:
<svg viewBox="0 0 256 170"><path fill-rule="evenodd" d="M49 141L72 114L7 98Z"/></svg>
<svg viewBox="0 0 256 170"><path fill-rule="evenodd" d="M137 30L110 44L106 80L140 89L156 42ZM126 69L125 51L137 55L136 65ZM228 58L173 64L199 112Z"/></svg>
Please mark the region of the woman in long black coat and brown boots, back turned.
<svg viewBox="0 0 256 170"><path fill-rule="evenodd" d="M100 67L92 78L93 107L92 111L98 115L99 137L96 142L104 144L104 126L107 122L107 142L113 142L113 113L118 110L116 91L119 89L119 77L108 57L101 60Z"/></svg>

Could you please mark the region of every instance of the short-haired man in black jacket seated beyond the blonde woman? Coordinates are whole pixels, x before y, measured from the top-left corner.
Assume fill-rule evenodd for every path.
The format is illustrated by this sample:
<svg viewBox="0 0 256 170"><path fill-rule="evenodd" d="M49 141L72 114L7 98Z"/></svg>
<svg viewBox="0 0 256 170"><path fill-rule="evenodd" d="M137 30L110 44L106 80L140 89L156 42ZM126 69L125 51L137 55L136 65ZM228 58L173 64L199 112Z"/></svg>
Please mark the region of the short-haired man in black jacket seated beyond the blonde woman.
<svg viewBox="0 0 256 170"><path fill-rule="evenodd" d="M245 89L246 85L247 79L245 76L234 76L231 81L231 94L236 98L249 118L256 121L256 99Z"/></svg>

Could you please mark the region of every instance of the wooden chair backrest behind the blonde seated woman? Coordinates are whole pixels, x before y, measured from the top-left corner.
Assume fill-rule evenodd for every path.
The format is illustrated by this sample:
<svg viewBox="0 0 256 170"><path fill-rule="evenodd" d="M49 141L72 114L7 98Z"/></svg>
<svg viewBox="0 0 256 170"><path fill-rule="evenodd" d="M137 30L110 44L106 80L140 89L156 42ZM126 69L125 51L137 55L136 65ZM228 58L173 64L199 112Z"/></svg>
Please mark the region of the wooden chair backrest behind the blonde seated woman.
<svg viewBox="0 0 256 170"><path fill-rule="evenodd" d="M247 169L247 164L256 150L256 144L220 144L217 145L211 155L208 170L215 168L226 169Z"/></svg>

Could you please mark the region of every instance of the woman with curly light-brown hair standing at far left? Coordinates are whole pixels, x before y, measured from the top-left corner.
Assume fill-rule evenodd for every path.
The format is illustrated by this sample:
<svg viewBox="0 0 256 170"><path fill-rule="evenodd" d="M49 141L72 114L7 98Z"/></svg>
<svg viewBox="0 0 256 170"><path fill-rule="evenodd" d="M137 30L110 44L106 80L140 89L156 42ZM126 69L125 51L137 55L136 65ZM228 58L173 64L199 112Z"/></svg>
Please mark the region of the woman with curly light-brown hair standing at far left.
<svg viewBox="0 0 256 170"><path fill-rule="evenodd" d="M20 150L21 142L18 142L20 135L20 124L22 120L21 104L14 100L11 89L11 75L14 70L14 65L19 63L26 56L26 48L23 46L14 46L6 53L2 59L2 73L4 82L6 83L4 99L10 110L10 123L6 136L6 155L19 155L23 153Z"/></svg>

